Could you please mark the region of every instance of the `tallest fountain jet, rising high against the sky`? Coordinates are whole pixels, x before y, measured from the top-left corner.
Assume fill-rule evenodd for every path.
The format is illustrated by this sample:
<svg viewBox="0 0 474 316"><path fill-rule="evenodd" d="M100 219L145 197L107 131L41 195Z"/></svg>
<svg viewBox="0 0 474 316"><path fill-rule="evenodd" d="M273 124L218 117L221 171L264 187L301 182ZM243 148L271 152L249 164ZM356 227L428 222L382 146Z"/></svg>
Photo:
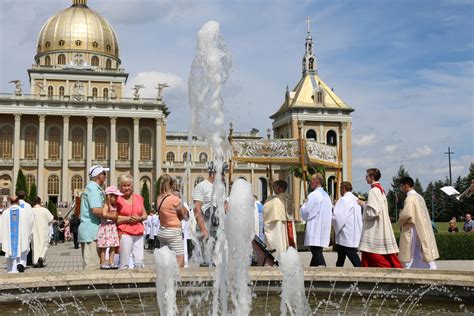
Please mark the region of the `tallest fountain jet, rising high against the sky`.
<svg viewBox="0 0 474 316"><path fill-rule="evenodd" d="M221 97L222 86L228 79L231 69L231 56L220 34L220 25L209 21L198 33L196 54L189 74L188 90L191 107L189 137L204 137L209 141L213 152L212 160L216 174L220 175L226 160L228 144L224 130L224 101ZM227 150L226 150L227 149ZM227 311L227 289L225 282L227 245L224 236L224 199L225 186L221 177L214 182L213 197L216 199L219 229L217 242L209 238L202 253L214 248L213 261L216 265L213 286L213 315ZM209 227L209 226L208 226Z"/></svg>

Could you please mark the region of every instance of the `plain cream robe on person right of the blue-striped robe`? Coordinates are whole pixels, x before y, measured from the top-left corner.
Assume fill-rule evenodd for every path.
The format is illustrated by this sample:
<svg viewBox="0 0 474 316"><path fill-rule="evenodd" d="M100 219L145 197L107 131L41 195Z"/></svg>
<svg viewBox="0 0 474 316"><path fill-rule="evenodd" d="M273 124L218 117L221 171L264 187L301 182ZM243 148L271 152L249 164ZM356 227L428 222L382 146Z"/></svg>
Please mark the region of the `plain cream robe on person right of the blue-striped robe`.
<svg viewBox="0 0 474 316"><path fill-rule="evenodd" d="M49 246L49 225L53 222L54 217L44 207L33 207L32 212L35 217L33 224L33 264L36 264L39 258L45 258Z"/></svg>

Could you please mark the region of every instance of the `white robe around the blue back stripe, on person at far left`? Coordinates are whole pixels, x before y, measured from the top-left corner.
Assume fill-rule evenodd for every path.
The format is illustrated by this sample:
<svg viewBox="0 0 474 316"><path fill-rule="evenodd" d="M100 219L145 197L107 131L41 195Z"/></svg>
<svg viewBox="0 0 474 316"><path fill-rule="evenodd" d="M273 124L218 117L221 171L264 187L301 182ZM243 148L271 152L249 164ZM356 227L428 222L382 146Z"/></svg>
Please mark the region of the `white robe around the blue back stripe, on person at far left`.
<svg viewBox="0 0 474 316"><path fill-rule="evenodd" d="M18 221L18 244L17 248L12 247L12 239L10 233L10 212L13 209L19 209ZM21 208L18 205L12 205L2 214L2 227L0 228L0 243L2 251L5 252L7 258L18 258L23 252L30 250L30 240L33 231L34 216L31 209ZM14 252L16 250L16 256Z"/></svg>

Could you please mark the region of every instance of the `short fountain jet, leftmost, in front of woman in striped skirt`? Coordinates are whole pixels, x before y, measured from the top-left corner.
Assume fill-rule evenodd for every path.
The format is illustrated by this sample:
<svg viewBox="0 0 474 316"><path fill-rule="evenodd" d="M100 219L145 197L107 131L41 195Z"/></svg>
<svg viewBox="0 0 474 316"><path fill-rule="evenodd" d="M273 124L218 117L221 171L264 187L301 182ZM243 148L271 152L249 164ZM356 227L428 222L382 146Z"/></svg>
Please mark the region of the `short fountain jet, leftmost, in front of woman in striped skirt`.
<svg viewBox="0 0 474 316"><path fill-rule="evenodd" d="M176 254L168 247L155 249L153 253L156 264L156 298L160 314L176 315L176 283L179 280L179 268Z"/></svg>

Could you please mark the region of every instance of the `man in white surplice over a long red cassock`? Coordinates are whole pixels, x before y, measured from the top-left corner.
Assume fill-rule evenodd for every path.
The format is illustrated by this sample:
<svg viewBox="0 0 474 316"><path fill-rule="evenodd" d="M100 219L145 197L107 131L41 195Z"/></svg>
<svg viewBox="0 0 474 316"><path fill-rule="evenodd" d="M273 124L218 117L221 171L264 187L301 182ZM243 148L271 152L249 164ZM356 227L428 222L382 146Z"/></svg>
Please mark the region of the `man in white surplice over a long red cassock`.
<svg viewBox="0 0 474 316"><path fill-rule="evenodd" d="M364 207L362 237L359 250L362 252L362 266L376 268L402 268L398 260L398 245L393 234L388 214L385 190L378 182L381 173L377 168L367 169L365 177L371 185L367 203L358 201Z"/></svg>

